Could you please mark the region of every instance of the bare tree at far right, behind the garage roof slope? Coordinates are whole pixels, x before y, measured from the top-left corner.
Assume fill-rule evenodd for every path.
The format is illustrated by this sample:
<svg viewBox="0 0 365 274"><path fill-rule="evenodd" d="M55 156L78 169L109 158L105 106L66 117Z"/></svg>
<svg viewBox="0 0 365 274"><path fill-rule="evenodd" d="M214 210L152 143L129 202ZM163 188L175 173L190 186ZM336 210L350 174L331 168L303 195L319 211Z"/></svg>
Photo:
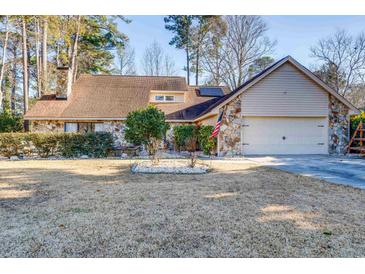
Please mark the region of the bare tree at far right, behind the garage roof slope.
<svg viewBox="0 0 365 274"><path fill-rule="evenodd" d="M311 48L311 55L322 62L317 75L346 96L365 75L365 34L353 37L345 30L338 30L319 40Z"/></svg>

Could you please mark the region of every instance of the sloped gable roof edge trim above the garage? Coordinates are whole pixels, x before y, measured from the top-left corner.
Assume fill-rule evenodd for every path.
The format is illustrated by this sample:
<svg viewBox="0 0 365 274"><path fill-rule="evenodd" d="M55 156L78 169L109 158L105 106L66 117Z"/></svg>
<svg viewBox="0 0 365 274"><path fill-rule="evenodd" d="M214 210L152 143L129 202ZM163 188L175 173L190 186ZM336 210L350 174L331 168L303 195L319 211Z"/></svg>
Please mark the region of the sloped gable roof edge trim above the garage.
<svg viewBox="0 0 365 274"><path fill-rule="evenodd" d="M263 71L261 71L259 74L255 75L250 80L243 83L241 86L233 90L231 93L227 94L226 96L222 97L221 100L217 101L215 104L211 105L206 111L204 111L199 117L195 119L195 121L200 121L210 115L212 115L212 112L217 112L218 110L231 102L233 99L235 99L237 96L241 95L243 92L248 90L250 87L264 79L266 76L268 76L270 73L284 65L285 63L289 62L293 66L295 66L297 69L299 69L301 72L303 72L306 76L308 76L312 81L317 83L319 86L321 86L323 89L325 89L328 93L336 97L340 102L345 104L349 109L351 109L355 113L359 113L360 111L351 104L345 97L338 94L335 90L333 90L331 87L329 87L325 82L323 82L321 79L319 79L316 75L314 75L309 69L304 67L302 64L300 64L298 61L296 61L293 57L290 55L280 59L279 61L275 62L271 66L267 67Z"/></svg>

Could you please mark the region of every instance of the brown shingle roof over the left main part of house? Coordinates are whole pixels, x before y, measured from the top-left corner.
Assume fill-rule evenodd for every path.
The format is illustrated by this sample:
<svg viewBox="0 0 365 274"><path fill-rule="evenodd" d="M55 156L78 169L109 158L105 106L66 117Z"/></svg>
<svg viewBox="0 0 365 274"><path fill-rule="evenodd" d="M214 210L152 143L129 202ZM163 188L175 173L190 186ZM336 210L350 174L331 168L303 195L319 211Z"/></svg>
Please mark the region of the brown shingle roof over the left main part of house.
<svg viewBox="0 0 365 274"><path fill-rule="evenodd" d="M81 75L74 83L71 96L67 100L44 96L31 107L24 118L121 119L131 111L146 107L151 90L166 90L185 91L185 102L157 106L167 115L181 111L179 117L190 119L194 118L191 113L197 113L200 108L191 109L191 112L184 112L184 109L212 99L199 97L197 88L188 86L184 77ZM229 92L227 89L225 91ZM177 114L171 117L173 116L177 117Z"/></svg>

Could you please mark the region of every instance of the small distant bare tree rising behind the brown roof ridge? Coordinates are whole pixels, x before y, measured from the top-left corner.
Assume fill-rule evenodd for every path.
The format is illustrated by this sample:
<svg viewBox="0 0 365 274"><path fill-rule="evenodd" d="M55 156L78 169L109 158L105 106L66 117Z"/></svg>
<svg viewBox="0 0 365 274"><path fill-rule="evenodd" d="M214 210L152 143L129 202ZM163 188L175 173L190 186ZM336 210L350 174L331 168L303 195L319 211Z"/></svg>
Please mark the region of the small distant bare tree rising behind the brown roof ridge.
<svg viewBox="0 0 365 274"><path fill-rule="evenodd" d="M145 75L160 76L174 75L175 63L169 55L165 54L157 41L148 46L143 54L142 68Z"/></svg>

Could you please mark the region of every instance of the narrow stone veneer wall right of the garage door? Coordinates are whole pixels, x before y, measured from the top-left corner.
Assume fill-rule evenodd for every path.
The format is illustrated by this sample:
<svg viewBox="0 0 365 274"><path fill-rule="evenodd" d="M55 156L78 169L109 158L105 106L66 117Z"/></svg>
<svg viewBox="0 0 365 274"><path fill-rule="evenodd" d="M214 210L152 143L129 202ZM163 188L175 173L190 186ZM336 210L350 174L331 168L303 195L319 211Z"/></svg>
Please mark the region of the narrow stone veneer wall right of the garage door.
<svg viewBox="0 0 365 274"><path fill-rule="evenodd" d="M328 152L344 154L347 146L349 130L349 108L337 98L329 95L328 113Z"/></svg>

